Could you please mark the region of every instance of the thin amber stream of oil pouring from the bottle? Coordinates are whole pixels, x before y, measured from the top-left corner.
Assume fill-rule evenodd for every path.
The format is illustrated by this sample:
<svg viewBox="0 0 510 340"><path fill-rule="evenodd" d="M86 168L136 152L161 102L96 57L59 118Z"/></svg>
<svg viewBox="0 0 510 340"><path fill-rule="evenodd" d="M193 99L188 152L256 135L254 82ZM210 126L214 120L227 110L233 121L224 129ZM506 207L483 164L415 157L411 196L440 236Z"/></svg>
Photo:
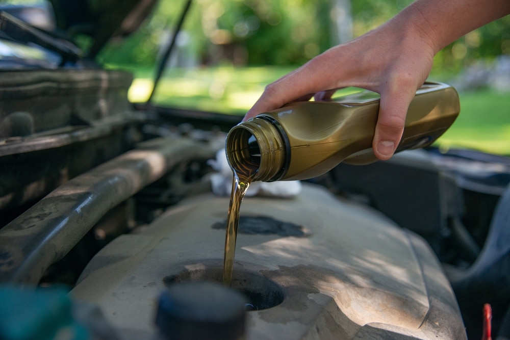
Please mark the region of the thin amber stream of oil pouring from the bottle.
<svg viewBox="0 0 510 340"><path fill-rule="evenodd" d="M228 218L225 236L225 254L223 258L223 284L230 286L232 272L234 270L234 255L236 253L237 229L239 226L239 210L244 194L250 185L250 176L238 175L234 171L230 205L228 206Z"/></svg>

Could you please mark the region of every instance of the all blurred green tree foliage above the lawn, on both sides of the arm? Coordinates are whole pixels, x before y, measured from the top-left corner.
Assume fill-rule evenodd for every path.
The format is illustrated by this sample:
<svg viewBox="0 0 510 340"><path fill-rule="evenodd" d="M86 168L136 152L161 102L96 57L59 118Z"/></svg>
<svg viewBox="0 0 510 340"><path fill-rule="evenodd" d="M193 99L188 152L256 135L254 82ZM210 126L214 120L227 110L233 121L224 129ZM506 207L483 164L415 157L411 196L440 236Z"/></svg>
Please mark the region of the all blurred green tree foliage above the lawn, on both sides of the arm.
<svg viewBox="0 0 510 340"><path fill-rule="evenodd" d="M387 21L412 0L351 1L353 36ZM184 30L197 63L300 65L335 44L335 0L196 0ZM162 0L146 25L122 43L112 41L100 60L154 65L184 1ZM497 20L444 48L435 67L456 72L483 58L510 54L510 17Z"/></svg>

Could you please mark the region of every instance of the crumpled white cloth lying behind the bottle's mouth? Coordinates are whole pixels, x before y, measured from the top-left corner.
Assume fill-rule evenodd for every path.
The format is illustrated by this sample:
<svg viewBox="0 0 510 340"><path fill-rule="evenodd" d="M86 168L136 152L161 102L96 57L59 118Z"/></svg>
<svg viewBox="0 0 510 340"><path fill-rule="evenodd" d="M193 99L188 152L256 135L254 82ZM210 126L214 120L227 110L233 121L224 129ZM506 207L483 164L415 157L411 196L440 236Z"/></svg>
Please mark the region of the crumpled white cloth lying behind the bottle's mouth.
<svg viewBox="0 0 510 340"><path fill-rule="evenodd" d="M217 171L211 175L211 187L213 193L218 196L230 196L232 190L232 169L226 160L225 150L216 152L216 159L209 160L208 164ZM246 196L273 196L291 198L301 192L299 180L286 180L276 182L252 182L246 192Z"/></svg>

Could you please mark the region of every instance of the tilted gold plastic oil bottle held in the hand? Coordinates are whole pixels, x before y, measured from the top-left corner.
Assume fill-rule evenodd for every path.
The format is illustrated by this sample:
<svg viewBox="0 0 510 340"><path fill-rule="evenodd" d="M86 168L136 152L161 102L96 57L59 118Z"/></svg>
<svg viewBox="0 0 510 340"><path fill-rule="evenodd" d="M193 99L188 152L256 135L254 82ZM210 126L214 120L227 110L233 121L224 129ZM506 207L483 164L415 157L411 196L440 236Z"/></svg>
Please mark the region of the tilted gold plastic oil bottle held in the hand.
<svg viewBox="0 0 510 340"><path fill-rule="evenodd" d="M313 178L340 162L375 162L372 139L379 97L370 93L368 98L295 102L242 122L227 135L228 163L253 181L275 181ZM454 88L425 83L409 106L396 151L430 145L459 111Z"/></svg>

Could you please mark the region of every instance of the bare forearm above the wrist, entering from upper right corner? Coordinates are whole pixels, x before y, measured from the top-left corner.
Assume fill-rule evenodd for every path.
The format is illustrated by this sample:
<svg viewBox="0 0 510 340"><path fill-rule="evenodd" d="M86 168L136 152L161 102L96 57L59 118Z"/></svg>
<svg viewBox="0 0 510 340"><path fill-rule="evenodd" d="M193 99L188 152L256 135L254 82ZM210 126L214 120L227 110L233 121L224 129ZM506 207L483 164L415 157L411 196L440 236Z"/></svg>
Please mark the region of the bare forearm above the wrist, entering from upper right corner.
<svg viewBox="0 0 510 340"><path fill-rule="evenodd" d="M510 0L417 0L391 21L426 39L435 53L463 35L510 14Z"/></svg>

